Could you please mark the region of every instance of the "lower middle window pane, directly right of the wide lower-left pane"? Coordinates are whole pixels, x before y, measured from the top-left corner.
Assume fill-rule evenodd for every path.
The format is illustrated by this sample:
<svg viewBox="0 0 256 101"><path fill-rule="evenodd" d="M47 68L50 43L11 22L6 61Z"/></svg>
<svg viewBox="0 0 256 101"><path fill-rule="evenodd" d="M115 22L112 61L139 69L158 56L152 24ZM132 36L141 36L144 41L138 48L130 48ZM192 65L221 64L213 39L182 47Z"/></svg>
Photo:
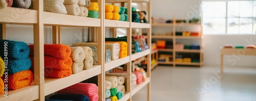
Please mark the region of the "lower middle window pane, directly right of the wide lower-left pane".
<svg viewBox="0 0 256 101"><path fill-rule="evenodd" d="M239 33L239 18L228 18L227 25L227 33Z"/></svg>

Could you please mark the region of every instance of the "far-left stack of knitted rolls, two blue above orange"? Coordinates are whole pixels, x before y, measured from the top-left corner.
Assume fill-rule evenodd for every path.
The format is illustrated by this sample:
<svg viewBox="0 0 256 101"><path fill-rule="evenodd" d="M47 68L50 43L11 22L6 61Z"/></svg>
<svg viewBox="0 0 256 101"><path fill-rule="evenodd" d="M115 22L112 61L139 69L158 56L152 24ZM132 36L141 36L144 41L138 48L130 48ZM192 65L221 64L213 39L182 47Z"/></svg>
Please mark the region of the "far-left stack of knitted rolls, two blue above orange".
<svg viewBox="0 0 256 101"><path fill-rule="evenodd" d="M3 80L8 77L8 89L15 90L22 87L29 86L33 81L33 73L29 70L31 67L31 60L29 59L29 46L24 42L0 40L0 60L1 64L1 76L5 72ZM8 50L8 51L5 51ZM4 60L4 61L3 61ZM6 61L8 60L8 61ZM5 68L4 62L8 62L7 68ZM1 91L3 90L3 82L0 80Z"/></svg>

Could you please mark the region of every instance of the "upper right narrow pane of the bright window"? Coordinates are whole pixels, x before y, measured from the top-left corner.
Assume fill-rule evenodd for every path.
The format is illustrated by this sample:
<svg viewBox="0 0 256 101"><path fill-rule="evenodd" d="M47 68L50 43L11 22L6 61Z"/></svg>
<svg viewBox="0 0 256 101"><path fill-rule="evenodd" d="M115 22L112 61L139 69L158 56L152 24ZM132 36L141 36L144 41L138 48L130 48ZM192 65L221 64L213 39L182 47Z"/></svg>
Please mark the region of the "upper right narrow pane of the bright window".
<svg viewBox="0 0 256 101"><path fill-rule="evenodd" d="M251 17L252 16L252 2L241 1L240 2L240 17Z"/></svg>

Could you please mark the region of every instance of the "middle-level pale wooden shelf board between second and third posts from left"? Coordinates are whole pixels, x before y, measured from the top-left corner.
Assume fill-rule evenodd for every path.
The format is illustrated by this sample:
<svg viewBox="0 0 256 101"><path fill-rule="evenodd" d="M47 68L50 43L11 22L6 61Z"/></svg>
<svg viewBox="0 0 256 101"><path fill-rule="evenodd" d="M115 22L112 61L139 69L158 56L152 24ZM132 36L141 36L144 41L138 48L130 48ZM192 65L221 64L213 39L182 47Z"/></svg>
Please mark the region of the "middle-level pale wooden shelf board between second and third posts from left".
<svg viewBox="0 0 256 101"><path fill-rule="evenodd" d="M105 71L109 71L111 69L114 69L117 66L123 65L123 64L125 64L129 61L130 61L130 56L126 56L126 57L119 58L119 59L116 59L116 60L111 60L110 62L105 63Z"/></svg>

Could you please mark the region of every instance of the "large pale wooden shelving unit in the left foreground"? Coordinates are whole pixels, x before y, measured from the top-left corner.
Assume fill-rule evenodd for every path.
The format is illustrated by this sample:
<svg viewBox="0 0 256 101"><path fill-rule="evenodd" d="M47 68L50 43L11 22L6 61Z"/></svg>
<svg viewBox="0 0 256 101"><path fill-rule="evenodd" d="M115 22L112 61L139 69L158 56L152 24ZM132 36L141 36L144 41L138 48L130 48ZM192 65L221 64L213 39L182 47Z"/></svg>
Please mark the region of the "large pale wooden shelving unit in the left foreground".
<svg viewBox="0 0 256 101"><path fill-rule="evenodd" d="M69 87L78 82L87 80L94 76L98 76L98 92L99 100L105 100L105 72L116 68L119 65L127 64L127 89L123 94L123 97L119 100L132 100L132 96L138 92L141 88L147 85L147 99L151 100L151 71L147 71L148 79L142 84L138 85L135 89L131 89L131 74L132 74L132 61L140 57L146 56L148 63L151 63L151 49L132 54L132 28L146 28L147 29L147 43L148 47L151 47L151 19L148 19L150 23L135 23L132 20L132 3L146 3L147 15L151 18L151 1L150 0L103 0L95 1L99 6L99 18L87 18L63 14L55 14L44 12L42 9L44 6L43 1L34 1L34 10L19 9L7 7L5 9L0 9L0 24L2 24L2 39L6 39L6 24L17 24L17 25L33 25L34 27L34 84L28 87L20 88L17 90L8 91L8 97L4 94L0 95L0 100L45 100L45 96L54 93L60 89ZM115 20L105 20L104 19L104 5L105 3L127 3L129 16L128 21L115 21ZM20 11L20 12L18 12ZM22 11L22 12L21 12ZM17 16L13 16L17 14ZM56 36L61 36L61 27L91 27L95 29L92 33L98 43L98 64L93 65L93 68L89 70L83 70L77 74L72 74L71 76L52 79L44 77L44 26L53 27L53 44L61 44L61 38ZM104 53L104 39L105 39L105 27L111 28L127 28L127 43L128 43L128 56L116 60L112 60L105 63L105 53ZM147 66L147 70L151 70L151 65Z"/></svg>

